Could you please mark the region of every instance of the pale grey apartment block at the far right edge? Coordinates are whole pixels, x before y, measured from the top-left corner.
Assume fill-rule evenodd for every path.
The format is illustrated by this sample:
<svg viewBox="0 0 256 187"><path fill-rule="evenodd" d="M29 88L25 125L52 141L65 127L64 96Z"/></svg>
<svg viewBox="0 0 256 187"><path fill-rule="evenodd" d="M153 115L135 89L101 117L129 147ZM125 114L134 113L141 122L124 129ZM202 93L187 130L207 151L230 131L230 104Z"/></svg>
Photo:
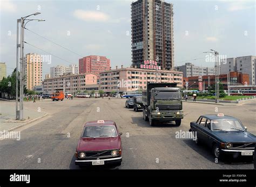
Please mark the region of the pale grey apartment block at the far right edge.
<svg viewBox="0 0 256 187"><path fill-rule="evenodd" d="M227 74L231 71L248 74L250 77L250 83L255 85L255 59L256 56L240 56L228 58L226 63L220 63L220 74Z"/></svg>

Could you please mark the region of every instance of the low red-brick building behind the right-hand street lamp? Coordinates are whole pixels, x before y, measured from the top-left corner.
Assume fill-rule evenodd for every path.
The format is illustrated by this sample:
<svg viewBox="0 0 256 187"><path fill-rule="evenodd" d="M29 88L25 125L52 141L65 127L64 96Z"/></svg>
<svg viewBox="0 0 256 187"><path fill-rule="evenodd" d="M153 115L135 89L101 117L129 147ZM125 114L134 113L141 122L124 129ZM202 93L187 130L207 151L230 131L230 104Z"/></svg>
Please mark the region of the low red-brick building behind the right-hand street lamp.
<svg viewBox="0 0 256 187"><path fill-rule="evenodd" d="M203 76L203 83L205 90L208 89L208 85L215 84L215 75ZM210 82L208 82L210 80ZM223 84L225 90L227 90L227 74L219 75L220 83ZM183 77L183 87L185 87L186 82L188 82L189 89L198 90L198 76L193 77ZM196 82L196 83L194 83ZM209 83L209 84L208 84ZM250 79L249 74L242 74L239 72L230 72L230 85L249 85Z"/></svg>

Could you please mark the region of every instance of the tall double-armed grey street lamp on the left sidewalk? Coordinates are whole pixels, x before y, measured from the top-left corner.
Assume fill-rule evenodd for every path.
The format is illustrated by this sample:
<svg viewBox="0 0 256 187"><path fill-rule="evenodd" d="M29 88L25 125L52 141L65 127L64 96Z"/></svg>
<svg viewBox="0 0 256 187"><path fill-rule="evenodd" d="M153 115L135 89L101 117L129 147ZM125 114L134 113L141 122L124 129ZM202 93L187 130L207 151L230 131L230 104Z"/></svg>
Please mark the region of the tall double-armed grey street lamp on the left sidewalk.
<svg viewBox="0 0 256 187"><path fill-rule="evenodd" d="M23 120L23 92L24 92L24 76L25 76L25 66L24 66L24 28L25 25L32 20L37 21L45 21L44 19L26 19L30 16L37 16L40 12L32 13L31 15L21 17L21 19L17 19L17 48L16 48L16 119ZM19 24L21 24L21 41L19 44ZM20 48L20 59L19 56L19 48ZM20 66L18 63L20 60ZM20 71L20 75L18 77L18 67ZM18 109L18 78L20 80L19 87L19 109Z"/></svg>

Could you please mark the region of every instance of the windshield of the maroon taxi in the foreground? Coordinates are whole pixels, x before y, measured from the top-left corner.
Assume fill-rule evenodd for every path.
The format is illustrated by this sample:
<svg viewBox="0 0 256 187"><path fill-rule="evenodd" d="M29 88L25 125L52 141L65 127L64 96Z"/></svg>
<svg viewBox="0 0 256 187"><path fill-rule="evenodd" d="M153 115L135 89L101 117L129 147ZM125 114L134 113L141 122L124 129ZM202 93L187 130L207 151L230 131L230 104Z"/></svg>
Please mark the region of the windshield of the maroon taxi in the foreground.
<svg viewBox="0 0 256 187"><path fill-rule="evenodd" d="M117 131L114 126L88 126L84 128L82 138L97 138L117 136Z"/></svg>

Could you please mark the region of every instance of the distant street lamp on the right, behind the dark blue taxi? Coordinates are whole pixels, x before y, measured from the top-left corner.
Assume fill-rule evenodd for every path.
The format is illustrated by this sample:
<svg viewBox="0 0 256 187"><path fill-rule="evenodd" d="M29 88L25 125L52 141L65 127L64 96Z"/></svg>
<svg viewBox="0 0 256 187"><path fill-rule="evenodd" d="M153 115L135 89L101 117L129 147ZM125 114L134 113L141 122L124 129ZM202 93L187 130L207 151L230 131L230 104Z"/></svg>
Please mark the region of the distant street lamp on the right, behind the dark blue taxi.
<svg viewBox="0 0 256 187"><path fill-rule="evenodd" d="M219 103L219 52L213 49L210 49L210 51L204 53L211 53L215 56L215 103Z"/></svg>

